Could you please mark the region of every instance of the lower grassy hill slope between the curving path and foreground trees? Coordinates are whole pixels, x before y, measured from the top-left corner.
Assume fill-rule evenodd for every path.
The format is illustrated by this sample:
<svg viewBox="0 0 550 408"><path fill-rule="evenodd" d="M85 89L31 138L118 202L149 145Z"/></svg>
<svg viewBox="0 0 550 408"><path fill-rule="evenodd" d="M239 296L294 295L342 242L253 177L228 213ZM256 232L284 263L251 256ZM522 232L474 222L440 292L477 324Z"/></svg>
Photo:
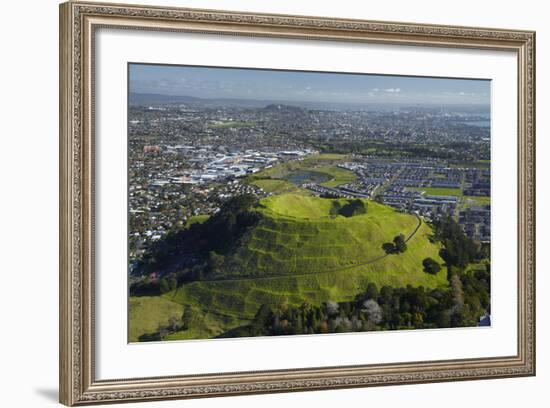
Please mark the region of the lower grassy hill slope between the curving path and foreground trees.
<svg viewBox="0 0 550 408"><path fill-rule="evenodd" d="M422 260L426 257L442 262L437 254L439 248L426 244L430 234L430 228L422 224L407 243L409 249L405 253L389 255L365 265L318 273L193 282L165 296L173 302L202 307L207 311L221 310L234 317L252 318L263 303L298 306L303 302L320 305L327 300L352 300L366 289L369 282L379 288L408 284L426 288L445 286L444 269L437 275L427 274L422 269Z"/></svg>

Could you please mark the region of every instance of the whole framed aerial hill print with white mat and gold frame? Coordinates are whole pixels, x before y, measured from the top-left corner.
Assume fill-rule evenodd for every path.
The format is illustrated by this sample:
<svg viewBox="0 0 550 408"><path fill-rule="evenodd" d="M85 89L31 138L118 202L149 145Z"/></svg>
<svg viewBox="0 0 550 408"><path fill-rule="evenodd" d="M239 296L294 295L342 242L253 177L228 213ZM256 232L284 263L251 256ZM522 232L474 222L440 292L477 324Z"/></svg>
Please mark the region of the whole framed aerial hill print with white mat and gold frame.
<svg viewBox="0 0 550 408"><path fill-rule="evenodd" d="M62 4L61 402L534 375L534 41Z"/></svg>

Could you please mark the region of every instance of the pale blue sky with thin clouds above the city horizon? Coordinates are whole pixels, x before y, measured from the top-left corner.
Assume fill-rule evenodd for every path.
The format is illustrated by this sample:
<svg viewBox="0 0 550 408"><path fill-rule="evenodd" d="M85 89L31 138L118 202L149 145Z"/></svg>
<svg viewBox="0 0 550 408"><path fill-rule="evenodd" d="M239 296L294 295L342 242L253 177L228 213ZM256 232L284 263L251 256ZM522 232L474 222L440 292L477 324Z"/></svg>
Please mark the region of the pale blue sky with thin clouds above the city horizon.
<svg viewBox="0 0 550 408"><path fill-rule="evenodd" d="M130 92L354 104L490 104L487 80L144 64L130 64Z"/></svg>

